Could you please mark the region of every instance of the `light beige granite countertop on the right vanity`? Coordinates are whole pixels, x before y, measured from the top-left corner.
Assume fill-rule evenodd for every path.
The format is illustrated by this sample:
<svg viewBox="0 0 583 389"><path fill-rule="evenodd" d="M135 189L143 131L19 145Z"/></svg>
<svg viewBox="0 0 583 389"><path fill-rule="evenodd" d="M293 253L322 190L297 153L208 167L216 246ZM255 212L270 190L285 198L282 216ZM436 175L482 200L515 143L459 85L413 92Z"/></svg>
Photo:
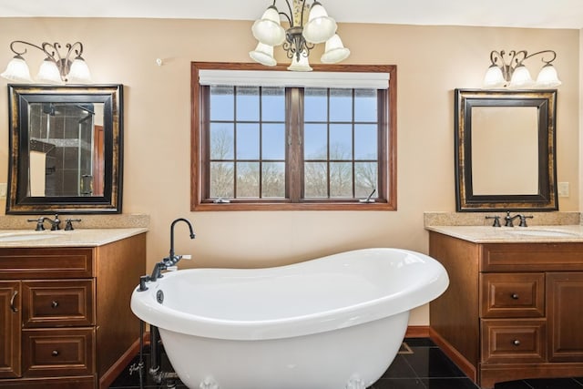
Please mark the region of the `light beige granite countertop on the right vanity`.
<svg viewBox="0 0 583 389"><path fill-rule="evenodd" d="M578 224L532 227L425 226L425 230L475 243L583 242L583 226Z"/></svg>

